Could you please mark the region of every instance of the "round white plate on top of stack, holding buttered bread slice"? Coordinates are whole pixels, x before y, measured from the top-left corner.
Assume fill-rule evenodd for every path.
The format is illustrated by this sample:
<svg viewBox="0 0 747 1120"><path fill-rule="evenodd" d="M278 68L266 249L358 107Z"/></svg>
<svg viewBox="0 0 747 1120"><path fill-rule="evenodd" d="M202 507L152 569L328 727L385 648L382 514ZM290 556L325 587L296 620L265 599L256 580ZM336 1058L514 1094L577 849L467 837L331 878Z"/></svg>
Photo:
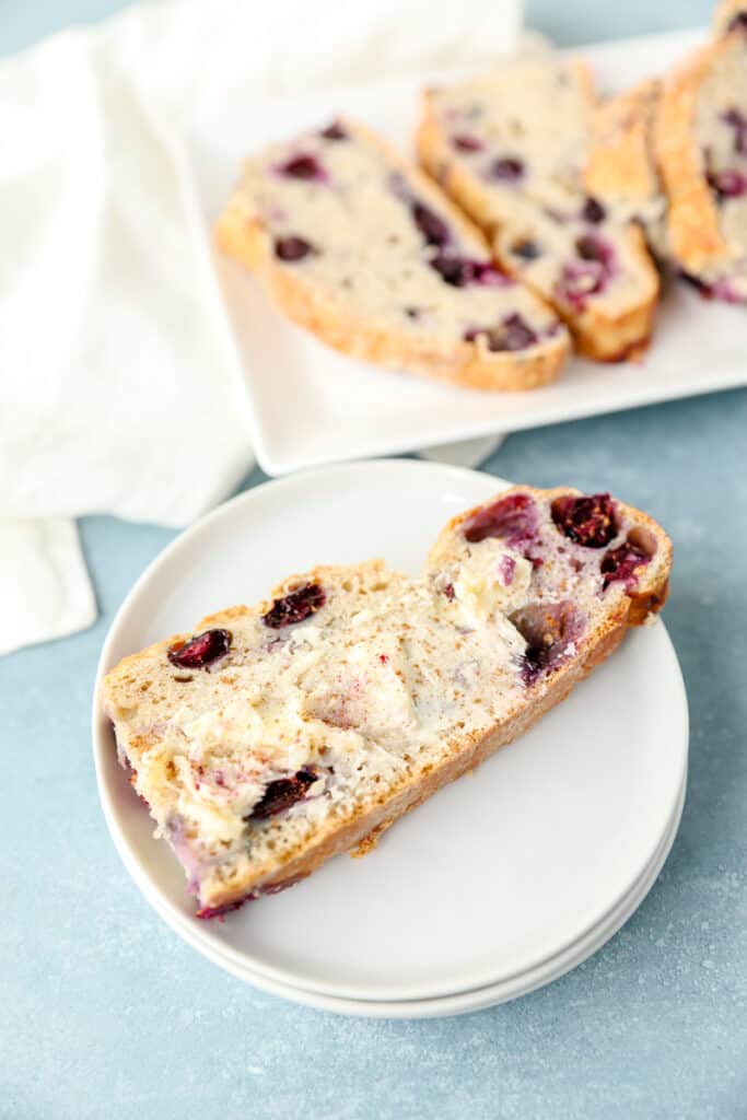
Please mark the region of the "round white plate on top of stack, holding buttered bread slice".
<svg viewBox="0 0 747 1120"><path fill-rule="evenodd" d="M112 624L99 679L125 654L261 598L315 563L385 556L417 572L449 517L505 485L455 467L385 460L249 491L184 533L141 577ZM688 711L659 622L628 635L520 744L408 814L365 859L332 860L223 923L192 916L183 872L153 840L96 701L94 747L125 866L206 956L265 986L419 1001L530 976L594 940L642 881L675 815Z"/></svg>

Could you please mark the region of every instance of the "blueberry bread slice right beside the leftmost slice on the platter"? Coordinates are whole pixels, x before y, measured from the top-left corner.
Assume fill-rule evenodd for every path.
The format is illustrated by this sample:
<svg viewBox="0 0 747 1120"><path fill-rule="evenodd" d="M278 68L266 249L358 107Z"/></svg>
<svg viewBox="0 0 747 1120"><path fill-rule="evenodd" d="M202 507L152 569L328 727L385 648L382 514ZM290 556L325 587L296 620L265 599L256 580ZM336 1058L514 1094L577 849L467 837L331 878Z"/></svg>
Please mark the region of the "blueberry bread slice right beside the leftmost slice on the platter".
<svg viewBox="0 0 747 1120"><path fill-rule="evenodd" d="M552 304L582 353L617 361L647 344L659 277L639 228L585 188L595 106L581 63L522 63L428 91L417 141L502 267Z"/></svg>

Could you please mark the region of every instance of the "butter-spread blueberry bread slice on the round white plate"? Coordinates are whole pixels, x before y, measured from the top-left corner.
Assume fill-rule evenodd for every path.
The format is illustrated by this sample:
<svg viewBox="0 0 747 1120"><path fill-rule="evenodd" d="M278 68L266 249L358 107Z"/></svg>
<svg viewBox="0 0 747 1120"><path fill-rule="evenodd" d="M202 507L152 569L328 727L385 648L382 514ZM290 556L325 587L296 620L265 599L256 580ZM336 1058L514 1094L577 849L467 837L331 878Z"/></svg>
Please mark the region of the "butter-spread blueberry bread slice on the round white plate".
<svg viewBox="0 0 747 1120"><path fill-rule="evenodd" d="M659 609L670 562L608 495L515 487L421 577L316 568L125 657L103 706L198 915L366 850L512 741Z"/></svg>

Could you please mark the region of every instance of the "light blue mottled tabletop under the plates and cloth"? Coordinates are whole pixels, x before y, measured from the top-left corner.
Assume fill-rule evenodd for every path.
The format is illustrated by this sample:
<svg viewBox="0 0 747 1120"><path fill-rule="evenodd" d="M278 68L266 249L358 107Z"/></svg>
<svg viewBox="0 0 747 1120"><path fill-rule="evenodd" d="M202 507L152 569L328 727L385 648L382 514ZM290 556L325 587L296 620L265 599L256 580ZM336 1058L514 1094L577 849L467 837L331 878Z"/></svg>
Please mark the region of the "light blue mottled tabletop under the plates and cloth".
<svg viewBox="0 0 747 1120"><path fill-rule="evenodd" d="M0 49L113 7L1 3ZM572 41L702 22L707 8L538 0L529 13ZM488 464L538 485L609 488L670 529L665 619L692 756L679 838L625 928L549 988L455 1019L346 1019L263 996L146 904L99 808L90 702L113 613L174 534L86 519L99 623L0 661L0 1116L745 1118L746 431L747 392L730 392L513 436Z"/></svg>

